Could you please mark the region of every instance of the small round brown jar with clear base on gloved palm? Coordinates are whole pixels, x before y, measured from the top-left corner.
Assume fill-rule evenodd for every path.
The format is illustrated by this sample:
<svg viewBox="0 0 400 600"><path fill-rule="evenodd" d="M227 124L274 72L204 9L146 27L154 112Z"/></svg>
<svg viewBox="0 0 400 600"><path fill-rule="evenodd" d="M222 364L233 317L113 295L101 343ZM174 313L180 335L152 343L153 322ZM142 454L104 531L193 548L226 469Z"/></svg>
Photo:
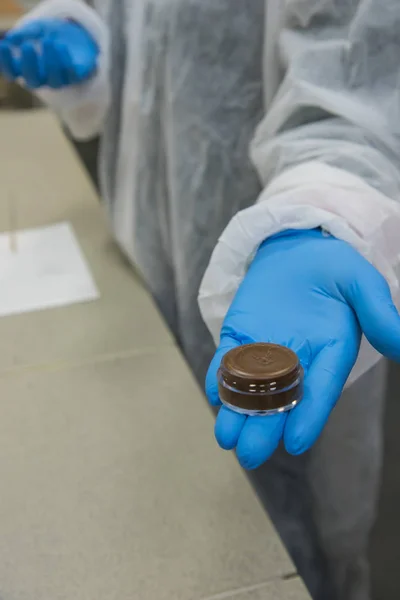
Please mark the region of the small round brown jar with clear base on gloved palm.
<svg viewBox="0 0 400 600"><path fill-rule="evenodd" d="M230 350L218 370L221 402L247 415L290 410L303 396L303 368L292 350L245 344Z"/></svg>

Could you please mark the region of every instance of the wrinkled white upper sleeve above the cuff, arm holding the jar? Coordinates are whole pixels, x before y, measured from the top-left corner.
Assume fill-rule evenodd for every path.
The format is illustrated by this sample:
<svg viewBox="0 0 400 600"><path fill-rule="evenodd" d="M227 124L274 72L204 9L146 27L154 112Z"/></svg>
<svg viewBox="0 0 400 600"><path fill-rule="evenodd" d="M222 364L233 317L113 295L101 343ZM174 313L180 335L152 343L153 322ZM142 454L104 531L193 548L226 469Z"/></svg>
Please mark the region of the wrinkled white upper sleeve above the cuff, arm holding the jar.
<svg viewBox="0 0 400 600"><path fill-rule="evenodd" d="M272 1L266 17L266 73L283 76L252 147L263 182L317 160L398 199L398 2Z"/></svg>

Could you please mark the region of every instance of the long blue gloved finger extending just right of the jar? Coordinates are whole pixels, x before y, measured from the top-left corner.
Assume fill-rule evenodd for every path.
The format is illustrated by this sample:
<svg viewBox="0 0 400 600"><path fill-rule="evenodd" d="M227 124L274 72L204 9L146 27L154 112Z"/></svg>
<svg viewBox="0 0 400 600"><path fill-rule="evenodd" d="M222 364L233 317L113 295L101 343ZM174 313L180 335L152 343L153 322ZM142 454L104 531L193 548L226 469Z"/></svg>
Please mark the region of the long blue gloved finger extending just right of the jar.
<svg viewBox="0 0 400 600"><path fill-rule="evenodd" d="M304 397L288 415L284 441L290 454L309 450L320 436L357 358L352 340L332 342L315 357L304 380Z"/></svg>

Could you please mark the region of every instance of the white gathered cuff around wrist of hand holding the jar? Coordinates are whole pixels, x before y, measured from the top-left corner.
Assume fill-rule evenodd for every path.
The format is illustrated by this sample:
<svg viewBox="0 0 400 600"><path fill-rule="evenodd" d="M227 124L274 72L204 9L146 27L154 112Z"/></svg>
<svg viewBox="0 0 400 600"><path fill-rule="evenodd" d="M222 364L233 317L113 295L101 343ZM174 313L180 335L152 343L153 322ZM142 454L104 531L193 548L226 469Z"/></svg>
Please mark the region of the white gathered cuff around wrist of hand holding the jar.
<svg viewBox="0 0 400 600"><path fill-rule="evenodd" d="M348 242L370 261L388 281L399 305L399 205L357 176L309 162L277 177L257 203L237 213L222 233L199 292L200 311L216 343L260 244L281 231L318 227ZM363 346L365 371L378 355L366 341Z"/></svg>

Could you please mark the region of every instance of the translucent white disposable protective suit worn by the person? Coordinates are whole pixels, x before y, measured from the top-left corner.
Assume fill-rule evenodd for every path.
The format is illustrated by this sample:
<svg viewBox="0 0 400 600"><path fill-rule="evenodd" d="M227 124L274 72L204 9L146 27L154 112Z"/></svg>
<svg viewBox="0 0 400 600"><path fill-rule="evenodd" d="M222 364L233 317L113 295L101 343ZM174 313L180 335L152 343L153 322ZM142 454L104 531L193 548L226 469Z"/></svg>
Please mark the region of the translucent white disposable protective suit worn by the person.
<svg viewBox="0 0 400 600"><path fill-rule="evenodd" d="M101 49L90 82L41 96L78 139L101 134L116 239L199 379L213 352L196 303L204 272L200 307L216 340L254 252L278 231L324 227L397 298L397 0L88 4L46 0L28 15L74 19ZM364 376L311 452L279 451L254 476L318 600L370 597L384 375L365 373L377 360L364 343L352 378Z"/></svg>

